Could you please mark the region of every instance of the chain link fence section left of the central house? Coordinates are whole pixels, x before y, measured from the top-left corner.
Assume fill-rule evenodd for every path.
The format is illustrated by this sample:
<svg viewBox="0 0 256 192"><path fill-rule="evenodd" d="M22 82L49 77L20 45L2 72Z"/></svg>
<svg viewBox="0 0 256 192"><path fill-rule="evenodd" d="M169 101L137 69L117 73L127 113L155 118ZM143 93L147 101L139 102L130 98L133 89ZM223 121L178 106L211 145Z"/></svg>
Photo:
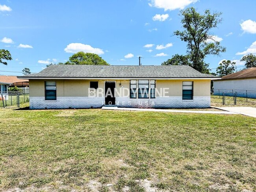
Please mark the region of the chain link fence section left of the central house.
<svg viewBox="0 0 256 192"><path fill-rule="evenodd" d="M12 91L0 94L0 108L23 108L29 106L29 94Z"/></svg>

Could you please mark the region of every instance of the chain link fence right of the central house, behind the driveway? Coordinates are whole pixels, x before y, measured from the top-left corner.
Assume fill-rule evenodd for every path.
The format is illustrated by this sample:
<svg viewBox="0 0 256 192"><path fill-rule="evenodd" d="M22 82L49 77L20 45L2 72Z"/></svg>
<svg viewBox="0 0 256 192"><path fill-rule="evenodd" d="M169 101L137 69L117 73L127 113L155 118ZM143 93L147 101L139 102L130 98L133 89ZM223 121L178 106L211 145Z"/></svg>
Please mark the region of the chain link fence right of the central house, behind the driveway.
<svg viewBox="0 0 256 192"><path fill-rule="evenodd" d="M256 91L211 90L211 105L247 105L256 107Z"/></svg>

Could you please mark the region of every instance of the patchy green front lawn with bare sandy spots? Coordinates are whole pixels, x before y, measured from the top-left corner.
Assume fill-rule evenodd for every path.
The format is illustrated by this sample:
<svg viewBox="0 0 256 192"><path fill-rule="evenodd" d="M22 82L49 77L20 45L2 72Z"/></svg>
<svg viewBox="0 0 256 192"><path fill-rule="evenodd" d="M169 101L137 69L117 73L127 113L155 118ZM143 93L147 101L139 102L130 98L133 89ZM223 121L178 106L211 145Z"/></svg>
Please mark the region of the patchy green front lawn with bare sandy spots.
<svg viewBox="0 0 256 192"><path fill-rule="evenodd" d="M0 116L0 191L256 190L255 118L100 109Z"/></svg>

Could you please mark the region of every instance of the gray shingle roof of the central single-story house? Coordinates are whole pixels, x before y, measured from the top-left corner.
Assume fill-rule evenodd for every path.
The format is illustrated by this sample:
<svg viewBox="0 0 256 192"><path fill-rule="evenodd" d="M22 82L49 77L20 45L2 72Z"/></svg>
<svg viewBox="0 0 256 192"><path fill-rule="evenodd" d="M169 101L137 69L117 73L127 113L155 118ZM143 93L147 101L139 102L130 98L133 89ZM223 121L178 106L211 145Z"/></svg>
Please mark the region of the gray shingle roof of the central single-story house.
<svg viewBox="0 0 256 192"><path fill-rule="evenodd" d="M51 65L22 78L217 78L190 66Z"/></svg>

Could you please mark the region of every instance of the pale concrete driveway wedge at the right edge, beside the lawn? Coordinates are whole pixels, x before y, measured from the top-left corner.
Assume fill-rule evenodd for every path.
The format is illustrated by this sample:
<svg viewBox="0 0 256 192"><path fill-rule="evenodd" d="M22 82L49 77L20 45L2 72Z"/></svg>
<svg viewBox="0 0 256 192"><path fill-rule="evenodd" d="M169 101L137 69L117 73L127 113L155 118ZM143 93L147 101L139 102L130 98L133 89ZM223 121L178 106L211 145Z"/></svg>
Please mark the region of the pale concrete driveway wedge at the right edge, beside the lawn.
<svg viewBox="0 0 256 192"><path fill-rule="evenodd" d="M214 108L247 115L250 117L256 117L256 108L254 107L214 107Z"/></svg>

